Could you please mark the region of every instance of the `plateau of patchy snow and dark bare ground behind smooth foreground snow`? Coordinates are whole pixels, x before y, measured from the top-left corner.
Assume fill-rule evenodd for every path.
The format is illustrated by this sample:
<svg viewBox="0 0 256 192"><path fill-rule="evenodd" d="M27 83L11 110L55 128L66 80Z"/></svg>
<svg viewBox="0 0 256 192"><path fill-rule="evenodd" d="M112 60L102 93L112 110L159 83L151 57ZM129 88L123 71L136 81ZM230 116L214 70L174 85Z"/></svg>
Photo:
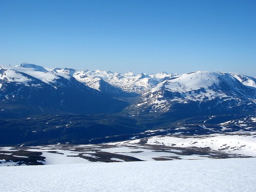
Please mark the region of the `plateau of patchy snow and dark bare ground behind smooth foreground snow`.
<svg viewBox="0 0 256 192"><path fill-rule="evenodd" d="M0 166L248 158L256 157L255 136L256 132L161 135L103 144L0 147Z"/></svg>

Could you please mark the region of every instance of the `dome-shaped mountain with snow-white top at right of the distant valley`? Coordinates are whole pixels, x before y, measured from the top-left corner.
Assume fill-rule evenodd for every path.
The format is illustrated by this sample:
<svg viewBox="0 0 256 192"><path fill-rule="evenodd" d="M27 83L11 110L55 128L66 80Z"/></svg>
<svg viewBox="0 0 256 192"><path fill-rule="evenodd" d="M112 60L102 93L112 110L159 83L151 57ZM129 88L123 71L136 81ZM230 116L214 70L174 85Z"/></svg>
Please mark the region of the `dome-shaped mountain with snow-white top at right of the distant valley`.
<svg viewBox="0 0 256 192"><path fill-rule="evenodd" d="M255 81L244 77L241 83L242 80L237 79L239 76L234 76L229 73L208 71L176 75L160 82L151 91L145 92L140 100L132 105L132 113L138 114L137 109L141 108L150 108L150 112L167 112L174 103L200 103L211 100L216 102L215 107L228 100L232 100L233 107L244 103L256 103L256 90L245 86L245 82L250 82L253 86Z"/></svg>

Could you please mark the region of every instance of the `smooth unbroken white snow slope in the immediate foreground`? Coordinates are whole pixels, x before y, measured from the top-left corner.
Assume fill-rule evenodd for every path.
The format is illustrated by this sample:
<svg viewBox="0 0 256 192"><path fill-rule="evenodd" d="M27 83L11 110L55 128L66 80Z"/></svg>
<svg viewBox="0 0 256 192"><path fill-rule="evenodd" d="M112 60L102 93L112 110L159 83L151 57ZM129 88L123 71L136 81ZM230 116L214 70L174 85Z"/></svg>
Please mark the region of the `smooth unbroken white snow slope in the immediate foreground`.
<svg viewBox="0 0 256 192"><path fill-rule="evenodd" d="M256 159L0 167L1 191L255 191Z"/></svg>

